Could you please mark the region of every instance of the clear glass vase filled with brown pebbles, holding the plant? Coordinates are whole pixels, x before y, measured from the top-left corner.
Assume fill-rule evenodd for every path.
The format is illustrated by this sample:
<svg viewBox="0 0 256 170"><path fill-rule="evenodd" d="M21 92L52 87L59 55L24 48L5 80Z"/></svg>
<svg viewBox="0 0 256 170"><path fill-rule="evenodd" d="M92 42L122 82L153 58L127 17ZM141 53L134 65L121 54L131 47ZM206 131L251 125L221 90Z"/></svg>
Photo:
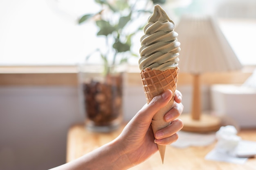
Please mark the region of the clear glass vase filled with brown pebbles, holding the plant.
<svg viewBox="0 0 256 170"><path fill-rule="evenodd" d="M79 85L85 126L91 131L110 132L123 120L123 72L103 65L79 67Z"/></svg>

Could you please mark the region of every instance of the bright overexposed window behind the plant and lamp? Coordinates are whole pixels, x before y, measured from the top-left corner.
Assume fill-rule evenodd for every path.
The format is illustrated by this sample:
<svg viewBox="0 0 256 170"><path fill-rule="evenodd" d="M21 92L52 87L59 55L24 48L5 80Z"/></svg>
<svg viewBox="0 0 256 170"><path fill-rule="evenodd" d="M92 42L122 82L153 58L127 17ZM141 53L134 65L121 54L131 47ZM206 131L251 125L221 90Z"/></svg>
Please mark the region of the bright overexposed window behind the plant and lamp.
<svg viewBox="0 0 256 170"><path fill-rule="evenodd" d="M256 17L255 3L254 0L167 0L162 6L176 24L187 13L222 19L222 31L240 62L248 65L256 63L250 55L252 43L248 43L255 38L255 23L250 22ZM93 0L2 0L0 65L75 65L83 61L90 49L102 42L88 41L95 39L97 29L92 23L79 25L77 21L83 14L99 9ZM134 51L138 52L140 44L134 43L137 43ZM130 63L137 64L137 59Z"/></svg>

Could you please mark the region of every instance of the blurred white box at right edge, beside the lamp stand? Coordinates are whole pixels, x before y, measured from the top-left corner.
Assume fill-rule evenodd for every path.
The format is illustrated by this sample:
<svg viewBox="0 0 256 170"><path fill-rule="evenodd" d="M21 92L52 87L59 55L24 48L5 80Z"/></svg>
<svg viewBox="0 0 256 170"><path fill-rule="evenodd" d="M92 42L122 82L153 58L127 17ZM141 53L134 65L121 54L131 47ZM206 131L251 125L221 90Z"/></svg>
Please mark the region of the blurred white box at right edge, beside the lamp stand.
<svg viewBox="0 0 256 170"><path fill-rule="evenodd" d="M211 105L218 116L230 117L242 128L256 127L256 88L212 85Z"/></svg>

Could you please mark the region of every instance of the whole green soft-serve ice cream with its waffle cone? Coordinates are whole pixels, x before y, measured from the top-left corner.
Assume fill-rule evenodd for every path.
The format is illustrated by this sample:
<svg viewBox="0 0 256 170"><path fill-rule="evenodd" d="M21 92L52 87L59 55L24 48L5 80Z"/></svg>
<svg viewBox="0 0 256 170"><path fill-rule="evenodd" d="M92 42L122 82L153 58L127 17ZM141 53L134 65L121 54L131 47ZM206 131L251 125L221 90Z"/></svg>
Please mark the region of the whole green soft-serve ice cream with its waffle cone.
<svg viewBox="0 0 256 170"><path fill-rule="evenodd" d="M145 34L141 37L139 68L147 102L167 89L173 92L168 105L158 111L152 119L154 133L170 124L164 120L164 114L174 103L180 51L180 42L177 41L178 34L173 31L174 27L174 22L166 12L159 5L155 5L154 12L144 28ZM166 146L157 147L163 162Z"/></svg>

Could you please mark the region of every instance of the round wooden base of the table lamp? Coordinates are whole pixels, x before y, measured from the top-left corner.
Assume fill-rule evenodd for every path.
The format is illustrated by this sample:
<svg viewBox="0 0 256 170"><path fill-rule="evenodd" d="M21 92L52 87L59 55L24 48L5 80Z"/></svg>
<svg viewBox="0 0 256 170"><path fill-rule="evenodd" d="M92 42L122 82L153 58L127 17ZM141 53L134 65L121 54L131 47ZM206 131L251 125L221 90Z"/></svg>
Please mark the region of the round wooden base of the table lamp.
<svg viewBox="0 0 256 170"><path fill-rule="evenodd" d="M200 120L193 120L191 114L183 114L180 116L183 122L183 131L190 132L210 132L218 131L220 129L221 120L216 116L210 114L201 114Z"/></svg>

